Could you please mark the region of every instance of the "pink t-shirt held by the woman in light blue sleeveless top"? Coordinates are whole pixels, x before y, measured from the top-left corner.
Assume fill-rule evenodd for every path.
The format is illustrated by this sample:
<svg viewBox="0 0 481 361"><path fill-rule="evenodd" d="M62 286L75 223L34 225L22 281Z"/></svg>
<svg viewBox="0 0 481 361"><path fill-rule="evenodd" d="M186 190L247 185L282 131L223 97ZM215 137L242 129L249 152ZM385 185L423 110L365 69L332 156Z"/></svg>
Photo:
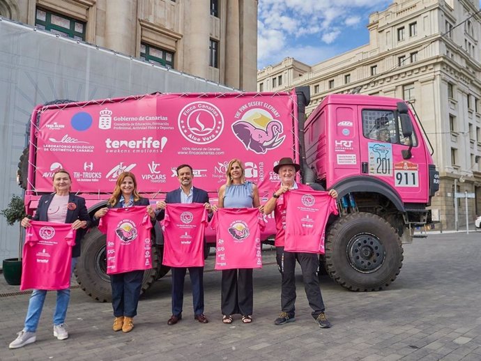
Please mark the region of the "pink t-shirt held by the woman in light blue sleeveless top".
<svg viewBox="0 0 481 361"><path fill-rule="evenodd" d="M261 229L257 208L219 208L211 220L217 233L215 269L262 268Z"/></svg>

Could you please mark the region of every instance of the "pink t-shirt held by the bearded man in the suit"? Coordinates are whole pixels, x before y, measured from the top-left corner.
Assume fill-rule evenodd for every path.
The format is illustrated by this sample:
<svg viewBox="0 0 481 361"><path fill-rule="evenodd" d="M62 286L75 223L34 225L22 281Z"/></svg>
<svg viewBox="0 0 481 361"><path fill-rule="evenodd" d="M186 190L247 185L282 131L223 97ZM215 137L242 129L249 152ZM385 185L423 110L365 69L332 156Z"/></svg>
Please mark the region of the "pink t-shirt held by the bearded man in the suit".
<svg viewBox="0 0 481 361"><path fill-rule="evenodd" d="M169 203L162 220L164 257L170 267L204 267L207 210L201 203Z"/></svg>

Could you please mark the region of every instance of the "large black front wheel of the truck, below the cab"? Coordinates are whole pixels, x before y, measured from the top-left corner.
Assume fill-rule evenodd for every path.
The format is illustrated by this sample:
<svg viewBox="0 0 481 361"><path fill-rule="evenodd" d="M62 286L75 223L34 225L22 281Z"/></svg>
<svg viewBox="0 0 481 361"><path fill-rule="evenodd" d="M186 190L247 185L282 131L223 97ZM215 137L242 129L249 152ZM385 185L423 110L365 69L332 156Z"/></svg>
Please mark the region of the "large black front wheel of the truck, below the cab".
<svg viewBox="0 0 481 361"><path fill-rule="evenodd" d="M396 279L403 249L395 229L372 213L350 213L330 226L326 270L351 291L378 291Z"/></svg>

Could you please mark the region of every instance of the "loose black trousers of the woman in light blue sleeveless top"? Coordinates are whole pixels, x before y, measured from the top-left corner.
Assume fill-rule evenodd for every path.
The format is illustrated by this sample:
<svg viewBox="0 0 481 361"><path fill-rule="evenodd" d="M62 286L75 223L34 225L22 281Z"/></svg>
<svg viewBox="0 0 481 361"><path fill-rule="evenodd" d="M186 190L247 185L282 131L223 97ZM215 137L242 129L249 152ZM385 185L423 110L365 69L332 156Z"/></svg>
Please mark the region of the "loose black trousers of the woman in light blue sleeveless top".
<svg viewBox="0 0 481 361"><path fill-rule="evenodd" d="M252 315L254 308L254 285L252 268L222 270L221 302L222 314Z"/></svg>

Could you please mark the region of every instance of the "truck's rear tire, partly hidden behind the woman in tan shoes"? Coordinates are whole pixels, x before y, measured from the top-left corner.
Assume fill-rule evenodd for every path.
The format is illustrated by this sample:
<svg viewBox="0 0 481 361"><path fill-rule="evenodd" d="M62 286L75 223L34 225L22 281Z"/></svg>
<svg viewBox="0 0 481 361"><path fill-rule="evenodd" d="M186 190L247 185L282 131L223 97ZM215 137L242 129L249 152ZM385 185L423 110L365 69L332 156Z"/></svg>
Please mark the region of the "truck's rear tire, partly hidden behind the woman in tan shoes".
<svg viewBox="0 0 481 361"><path fill-rule="evenodd" d="M112 301L110 277L107 275L107 259L105 254L106 236L98 230L91 229L82 240L82 254L75 268L75 276L80 287L94 300ZM142 291L144 293L157 279L161 261L157 247L152 247L153 268L144 272Z"/></svg>

